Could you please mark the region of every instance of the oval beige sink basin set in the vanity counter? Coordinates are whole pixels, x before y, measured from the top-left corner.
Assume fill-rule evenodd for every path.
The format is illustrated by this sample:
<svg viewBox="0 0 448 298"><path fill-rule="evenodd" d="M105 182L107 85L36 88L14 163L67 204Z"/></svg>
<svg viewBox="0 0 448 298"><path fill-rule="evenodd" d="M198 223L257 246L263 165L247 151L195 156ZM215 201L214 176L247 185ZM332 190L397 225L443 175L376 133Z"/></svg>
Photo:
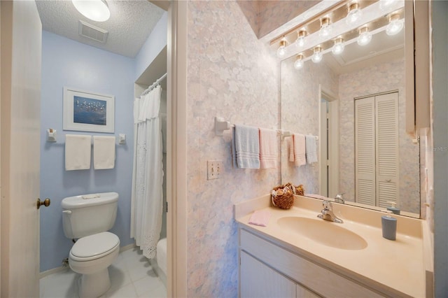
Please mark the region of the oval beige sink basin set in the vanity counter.
<svg viewBox="0 0 448 298"><path fill-rule="evenodd" d="M300 234L313 241L332 248L361 250L367 247L363 237L328 220L290 216L280 218L277 223L283 229Z"/></svg>

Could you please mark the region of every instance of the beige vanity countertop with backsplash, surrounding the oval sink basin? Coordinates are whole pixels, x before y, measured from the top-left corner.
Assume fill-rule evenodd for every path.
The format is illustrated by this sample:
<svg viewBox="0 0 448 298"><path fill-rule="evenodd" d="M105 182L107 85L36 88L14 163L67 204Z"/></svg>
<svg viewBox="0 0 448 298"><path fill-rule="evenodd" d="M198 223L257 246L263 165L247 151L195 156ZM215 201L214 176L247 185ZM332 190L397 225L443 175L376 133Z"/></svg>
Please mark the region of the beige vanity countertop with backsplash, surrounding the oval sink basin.
<svg viewBox="0 0 448 298"><path fill-rule="evenodd" d="M333 211L344 223L339 225L362 236L367 247L345 250L318 243L283 229L277 220L288 216L316 219L322 205L320 199L295 197L288 210L271 206L270 196L235 204L235 219L242 227L268 236L277 244L304 257L351 276L373 288L410 297L426 297L425 264L423 257L423 220L395 216L398 219L396 241L384 239L381 216L385 213L333 203ZM253 211L267 209L271 213L267 227L249 225Z"/></svg>

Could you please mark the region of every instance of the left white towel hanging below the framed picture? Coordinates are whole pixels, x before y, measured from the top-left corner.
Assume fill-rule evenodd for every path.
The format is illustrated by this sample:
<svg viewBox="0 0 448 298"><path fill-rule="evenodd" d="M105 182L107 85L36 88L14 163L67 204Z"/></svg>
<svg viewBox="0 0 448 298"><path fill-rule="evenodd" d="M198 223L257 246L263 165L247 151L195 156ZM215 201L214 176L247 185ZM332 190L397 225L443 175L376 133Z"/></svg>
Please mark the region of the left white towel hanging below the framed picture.
<svg viewBox="0 0 448 298"><path fill-rule="evenodd" d="M65 170L90 169L92 136L81 134L65 135Z"/></svg>

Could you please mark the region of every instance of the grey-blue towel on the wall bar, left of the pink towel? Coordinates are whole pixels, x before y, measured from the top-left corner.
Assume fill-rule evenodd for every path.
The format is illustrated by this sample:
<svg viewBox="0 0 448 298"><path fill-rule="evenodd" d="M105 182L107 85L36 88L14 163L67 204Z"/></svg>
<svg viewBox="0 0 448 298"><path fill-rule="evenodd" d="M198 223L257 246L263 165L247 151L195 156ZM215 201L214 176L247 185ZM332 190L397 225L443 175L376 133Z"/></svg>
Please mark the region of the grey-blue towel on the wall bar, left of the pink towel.
<svg viewBox="0 0 448 298"><path fill-rule="evenodd" d="M260 141L257 127L235 125L235 151L240 169L260 169Z"/></svg>

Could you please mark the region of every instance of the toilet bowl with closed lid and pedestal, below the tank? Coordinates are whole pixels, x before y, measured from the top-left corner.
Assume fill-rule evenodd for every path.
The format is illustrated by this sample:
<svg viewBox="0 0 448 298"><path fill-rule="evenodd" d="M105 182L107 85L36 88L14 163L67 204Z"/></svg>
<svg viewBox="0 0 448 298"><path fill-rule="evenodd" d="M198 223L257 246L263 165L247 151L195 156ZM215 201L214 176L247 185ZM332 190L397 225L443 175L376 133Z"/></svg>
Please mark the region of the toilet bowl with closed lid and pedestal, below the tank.
<svg viewBox="0 0 448 298"><path fill-rule="evenodd" d="M111 287L108 267L117 259L120 239L110 232L80 238L70 250L70 268L82 274L80 297L99 297Z"/></svg>

